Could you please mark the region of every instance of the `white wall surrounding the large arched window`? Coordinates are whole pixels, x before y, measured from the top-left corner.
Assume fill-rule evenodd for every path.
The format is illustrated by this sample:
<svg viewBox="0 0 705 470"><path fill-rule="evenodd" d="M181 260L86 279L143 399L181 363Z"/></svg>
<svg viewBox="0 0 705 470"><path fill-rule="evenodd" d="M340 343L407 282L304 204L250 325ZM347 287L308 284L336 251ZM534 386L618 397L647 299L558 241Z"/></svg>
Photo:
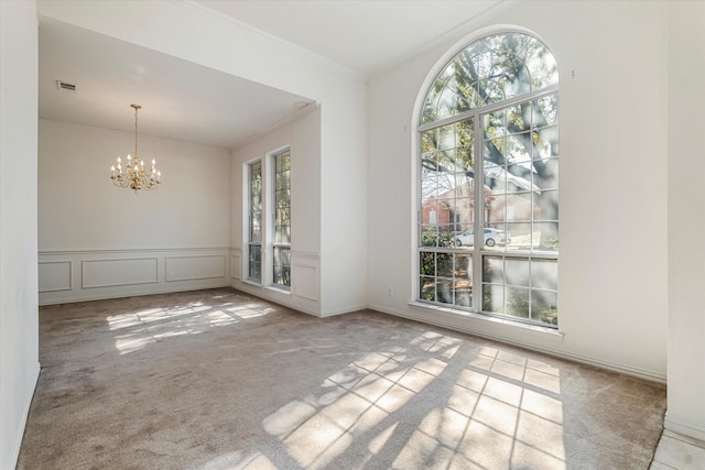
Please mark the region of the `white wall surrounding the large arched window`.
<svg viewBox="0 0 705 470"><path fill-rule="evenodd" d="M665 3L511 7L468 26L460 42L477 37L482 28L513 24L532 30L556 56L562 336L409 305L416 282L410 234L415 221L413 107L431 69L459 43L426 52L370 81L369 303L382 311L664 381Z"/></svg>

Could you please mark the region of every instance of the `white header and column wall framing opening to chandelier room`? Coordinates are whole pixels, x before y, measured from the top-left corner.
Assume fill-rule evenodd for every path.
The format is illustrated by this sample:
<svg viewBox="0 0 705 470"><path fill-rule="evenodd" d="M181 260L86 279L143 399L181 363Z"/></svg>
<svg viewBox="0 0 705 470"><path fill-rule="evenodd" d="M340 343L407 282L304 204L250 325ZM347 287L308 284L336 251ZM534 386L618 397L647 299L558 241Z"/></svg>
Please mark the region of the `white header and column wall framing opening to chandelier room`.
<svg viewBox="0 0 705 470"><path fill-rule="evenodd" d="M319 314L366 305L367 114L362 77L191 2L40 1L37 12L316 100L321 106Z"/></svg>

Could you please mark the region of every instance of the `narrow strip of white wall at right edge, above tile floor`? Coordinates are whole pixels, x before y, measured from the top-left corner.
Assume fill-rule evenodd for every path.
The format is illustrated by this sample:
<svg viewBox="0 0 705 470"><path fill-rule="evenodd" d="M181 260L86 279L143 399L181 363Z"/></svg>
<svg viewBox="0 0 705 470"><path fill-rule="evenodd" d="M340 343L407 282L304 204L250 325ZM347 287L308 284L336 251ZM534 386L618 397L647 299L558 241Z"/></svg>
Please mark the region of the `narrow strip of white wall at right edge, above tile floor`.
<svg viewBox="0 0 705 470"><path fill-rule="evenodd" d="M705 3L669 4L669 403L665 427L705 440Z"/></svg>

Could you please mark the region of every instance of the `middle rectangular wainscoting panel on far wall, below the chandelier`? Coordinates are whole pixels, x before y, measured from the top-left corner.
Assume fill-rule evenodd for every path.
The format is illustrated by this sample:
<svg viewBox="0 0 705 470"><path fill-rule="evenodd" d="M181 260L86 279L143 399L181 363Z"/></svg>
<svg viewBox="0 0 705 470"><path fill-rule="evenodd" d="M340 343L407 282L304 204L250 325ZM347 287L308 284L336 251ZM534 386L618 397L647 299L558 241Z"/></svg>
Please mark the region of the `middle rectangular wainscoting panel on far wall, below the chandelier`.
<svg viewBox="0 0 705 470"><path fill-rule="evenodd" d="M82 263L82 287L117 287L159 282L156 258L90 260Z"/></svg>

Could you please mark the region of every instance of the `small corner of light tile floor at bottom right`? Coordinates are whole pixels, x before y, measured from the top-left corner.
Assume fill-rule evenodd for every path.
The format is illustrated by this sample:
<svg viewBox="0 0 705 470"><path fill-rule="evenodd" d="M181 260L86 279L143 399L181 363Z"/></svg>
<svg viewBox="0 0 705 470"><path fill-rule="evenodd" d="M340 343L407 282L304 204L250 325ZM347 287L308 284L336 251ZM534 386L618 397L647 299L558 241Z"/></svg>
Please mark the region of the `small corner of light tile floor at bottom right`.
<svg viewBox="0 0 705 470"><path fill-rule="evenodd" d="M705 441L664 430L651 470L705 470Z"/></svg>

